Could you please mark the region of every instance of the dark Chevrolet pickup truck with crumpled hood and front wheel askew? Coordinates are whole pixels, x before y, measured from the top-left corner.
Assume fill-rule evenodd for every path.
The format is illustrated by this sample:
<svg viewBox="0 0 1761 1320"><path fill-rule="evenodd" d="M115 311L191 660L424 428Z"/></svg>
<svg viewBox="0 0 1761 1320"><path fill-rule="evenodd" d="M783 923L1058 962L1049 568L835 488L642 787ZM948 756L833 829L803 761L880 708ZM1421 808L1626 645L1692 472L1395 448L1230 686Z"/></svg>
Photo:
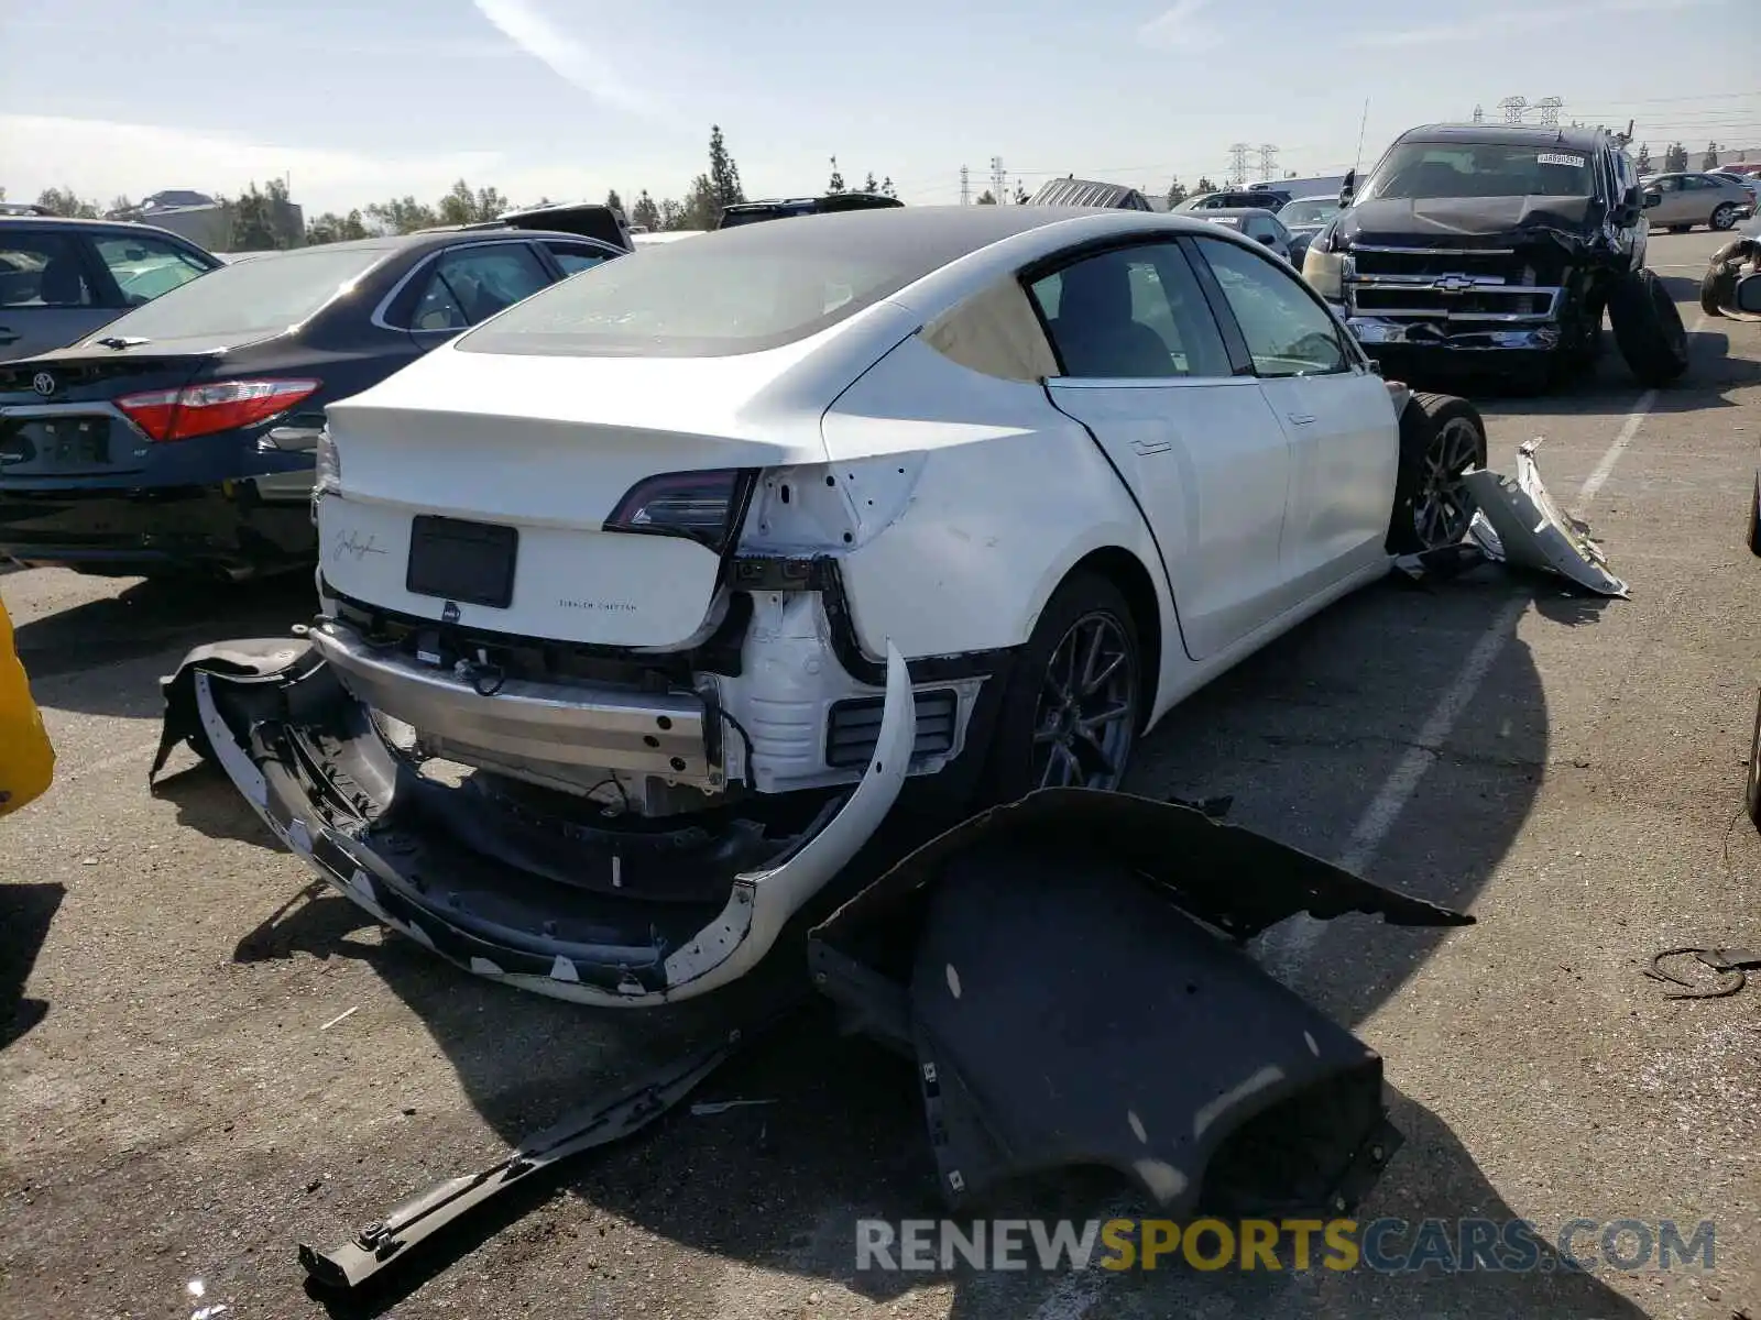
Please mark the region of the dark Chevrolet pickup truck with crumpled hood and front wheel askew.
<svg viewBox="0 0 1761 1320"><path fill-rule="evenodd" d="M1544 387L1595 361L1604 317L1647 385L1687 368L1682 319L1645 269L1655 202L1606 128L1426 125L1356 183L1303 276L1384 371Z"/></svg>

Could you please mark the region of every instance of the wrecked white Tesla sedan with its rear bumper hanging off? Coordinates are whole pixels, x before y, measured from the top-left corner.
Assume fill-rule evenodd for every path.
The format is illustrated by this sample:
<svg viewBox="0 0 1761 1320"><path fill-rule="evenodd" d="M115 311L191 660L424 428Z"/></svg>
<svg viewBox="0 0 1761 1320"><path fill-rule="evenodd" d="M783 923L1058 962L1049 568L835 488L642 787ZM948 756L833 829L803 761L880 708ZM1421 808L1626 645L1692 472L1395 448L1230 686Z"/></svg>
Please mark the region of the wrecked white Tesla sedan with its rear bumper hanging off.
<svg viewBox="0 0 1761 1320"><path fill-rule="evenodd" d="M192 656L167 739L199 729L342 892L472 972L687 998L907 781L1116 788L1182 697L1460 540L1483 463L1469 405L1384 382L1203 220L727 229L331 405L308 648Z"/></svg>

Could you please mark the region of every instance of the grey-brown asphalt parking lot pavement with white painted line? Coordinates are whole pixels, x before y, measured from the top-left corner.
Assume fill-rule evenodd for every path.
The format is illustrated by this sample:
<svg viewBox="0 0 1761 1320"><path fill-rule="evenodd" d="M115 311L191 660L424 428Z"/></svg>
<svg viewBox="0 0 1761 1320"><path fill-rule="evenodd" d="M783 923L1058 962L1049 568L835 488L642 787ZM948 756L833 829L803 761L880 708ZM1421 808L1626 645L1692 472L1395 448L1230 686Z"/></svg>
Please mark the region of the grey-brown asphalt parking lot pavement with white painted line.
<svg viewBox="0 0 1761 1320"><path fill-rule="evenodd" d="M1631 600L1497 567L1389 579L1180 706L1131 785L1233 796L1238 824L1477 917L1264 942L1386 1060L1407 1140L1359 1220L1529 1220L1544 1239L1580 1218L1712 1220L1710 1271L859 1274L856 1220L935 1216L933 1167L909 1065L810 1017L696 1096L766 1104L682 1107L372 1295L308 1294L296 1243L498 1158L660 1028L384 938L188 757L148 792L157 678L194 644L284 634L310 581L26 570L0 593L58 773L0 822L0 1008L18 1003L0 1313L1761 1318L1761 986L1668 1001L1641 975L1671 945L1761 947L1761 840L1740 815L1761 326L1701 317L1717 245L1652 239L1694 329L1678 385L1645 391L1610 343L1592 380L1481 400L1492 465L1544 436L1550 491Z"/></svg>

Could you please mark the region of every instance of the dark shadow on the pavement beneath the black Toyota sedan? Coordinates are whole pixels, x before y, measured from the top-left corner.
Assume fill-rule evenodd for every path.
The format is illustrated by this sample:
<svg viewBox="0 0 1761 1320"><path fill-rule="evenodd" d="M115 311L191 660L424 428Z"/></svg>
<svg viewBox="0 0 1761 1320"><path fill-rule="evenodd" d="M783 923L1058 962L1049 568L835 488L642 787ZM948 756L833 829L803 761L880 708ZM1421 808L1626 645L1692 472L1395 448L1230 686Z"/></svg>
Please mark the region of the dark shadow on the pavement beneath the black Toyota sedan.
<svg viewBox="0 0 1761 1320"><path fill-rule="evenodd" d="M26 620L14 646L32 683L79 679L88 671L139 660L173 648L192 649L222 637L276 637L317 612L306 572L257 583L136 583L113 597ZM139 693L118 692L102 674L58 685L56 709L85 715L134 715Z"/></svg>

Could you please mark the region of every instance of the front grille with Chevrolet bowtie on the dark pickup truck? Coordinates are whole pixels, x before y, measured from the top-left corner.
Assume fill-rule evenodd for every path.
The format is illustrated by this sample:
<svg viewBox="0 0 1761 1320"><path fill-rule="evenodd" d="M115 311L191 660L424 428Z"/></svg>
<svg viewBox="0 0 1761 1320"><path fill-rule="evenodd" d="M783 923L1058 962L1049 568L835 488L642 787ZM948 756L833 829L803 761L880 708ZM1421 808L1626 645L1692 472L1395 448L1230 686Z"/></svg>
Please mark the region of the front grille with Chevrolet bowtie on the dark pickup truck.
<svg viewBox="0 0 1761 1320"><path fill-rule="evenodd" d="M1551 320L1560 289L1553 271L1514 248L1395 248L1358 245L1345 269L1352 315L1382 320Z"/></svg>

